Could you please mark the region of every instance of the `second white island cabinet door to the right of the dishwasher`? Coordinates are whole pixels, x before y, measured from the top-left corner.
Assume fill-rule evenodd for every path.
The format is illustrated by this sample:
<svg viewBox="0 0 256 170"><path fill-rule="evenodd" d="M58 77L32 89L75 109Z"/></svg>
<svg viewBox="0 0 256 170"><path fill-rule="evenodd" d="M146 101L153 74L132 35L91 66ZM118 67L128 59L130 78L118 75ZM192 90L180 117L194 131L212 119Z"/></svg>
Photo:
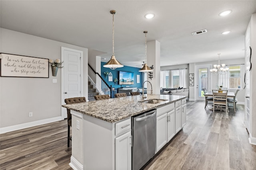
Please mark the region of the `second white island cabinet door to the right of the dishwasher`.
<svg viewBox="0 0 256 170"><path fill-rule="evenodd" d="M167 139L169 142L175 135L175 110L167 113Z"/></svg>

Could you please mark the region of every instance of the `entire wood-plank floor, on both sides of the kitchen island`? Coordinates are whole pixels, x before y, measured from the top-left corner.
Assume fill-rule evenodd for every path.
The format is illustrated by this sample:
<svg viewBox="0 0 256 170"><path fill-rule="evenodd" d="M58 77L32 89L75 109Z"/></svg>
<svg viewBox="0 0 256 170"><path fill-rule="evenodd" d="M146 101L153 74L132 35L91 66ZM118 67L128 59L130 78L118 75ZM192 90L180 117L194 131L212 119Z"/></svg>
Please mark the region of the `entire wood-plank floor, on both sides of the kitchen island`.
<svg viewBox="0 0 256 170"><path fill-rule="evenodd" d="M244 106L213 113L187 102L187 124L144 170L256 170ZM66 120L0 135L0 170L72 170Z"/></svg>

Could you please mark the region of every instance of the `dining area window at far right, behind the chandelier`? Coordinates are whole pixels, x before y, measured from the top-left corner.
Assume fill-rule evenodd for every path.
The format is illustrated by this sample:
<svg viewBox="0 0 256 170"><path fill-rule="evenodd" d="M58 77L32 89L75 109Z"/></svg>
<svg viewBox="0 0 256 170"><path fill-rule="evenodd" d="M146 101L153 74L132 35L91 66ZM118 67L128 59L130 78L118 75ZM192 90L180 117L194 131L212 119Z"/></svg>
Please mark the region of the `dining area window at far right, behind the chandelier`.
<svg viewBox="0 0 256 170"><path fill-rule="evenodd" d="M229 88L240 89L241 88L241 65L229 66Z"/></svg>

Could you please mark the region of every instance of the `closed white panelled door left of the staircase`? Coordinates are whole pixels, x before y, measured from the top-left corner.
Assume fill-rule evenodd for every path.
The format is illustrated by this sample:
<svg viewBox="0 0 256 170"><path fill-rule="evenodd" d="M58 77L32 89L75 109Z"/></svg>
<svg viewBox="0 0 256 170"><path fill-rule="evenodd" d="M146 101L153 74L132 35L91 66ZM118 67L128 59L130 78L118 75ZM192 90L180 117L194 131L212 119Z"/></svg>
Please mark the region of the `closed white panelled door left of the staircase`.
<svg viewBox="0 0 256 170"><path fill-rule="evenodd" d="M62 104L66 98L82 96L82 56L82 51L62 47ZM62 117L67 117L65 108L62 108Z"/></svg>

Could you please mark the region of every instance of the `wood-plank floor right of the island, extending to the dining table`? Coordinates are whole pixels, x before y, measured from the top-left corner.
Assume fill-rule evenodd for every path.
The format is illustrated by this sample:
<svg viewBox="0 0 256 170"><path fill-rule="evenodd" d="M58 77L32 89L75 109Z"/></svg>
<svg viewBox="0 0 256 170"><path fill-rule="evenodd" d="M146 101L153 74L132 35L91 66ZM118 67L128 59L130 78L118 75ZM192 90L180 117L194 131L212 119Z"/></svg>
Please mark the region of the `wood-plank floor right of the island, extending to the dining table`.
<svg viewBox="0 0 256 170"><path fill-rule="evenodd" d="M213 113L187 102L187 124L144 170L256 170L256 146L248 142L244 106Z"/></svg>

